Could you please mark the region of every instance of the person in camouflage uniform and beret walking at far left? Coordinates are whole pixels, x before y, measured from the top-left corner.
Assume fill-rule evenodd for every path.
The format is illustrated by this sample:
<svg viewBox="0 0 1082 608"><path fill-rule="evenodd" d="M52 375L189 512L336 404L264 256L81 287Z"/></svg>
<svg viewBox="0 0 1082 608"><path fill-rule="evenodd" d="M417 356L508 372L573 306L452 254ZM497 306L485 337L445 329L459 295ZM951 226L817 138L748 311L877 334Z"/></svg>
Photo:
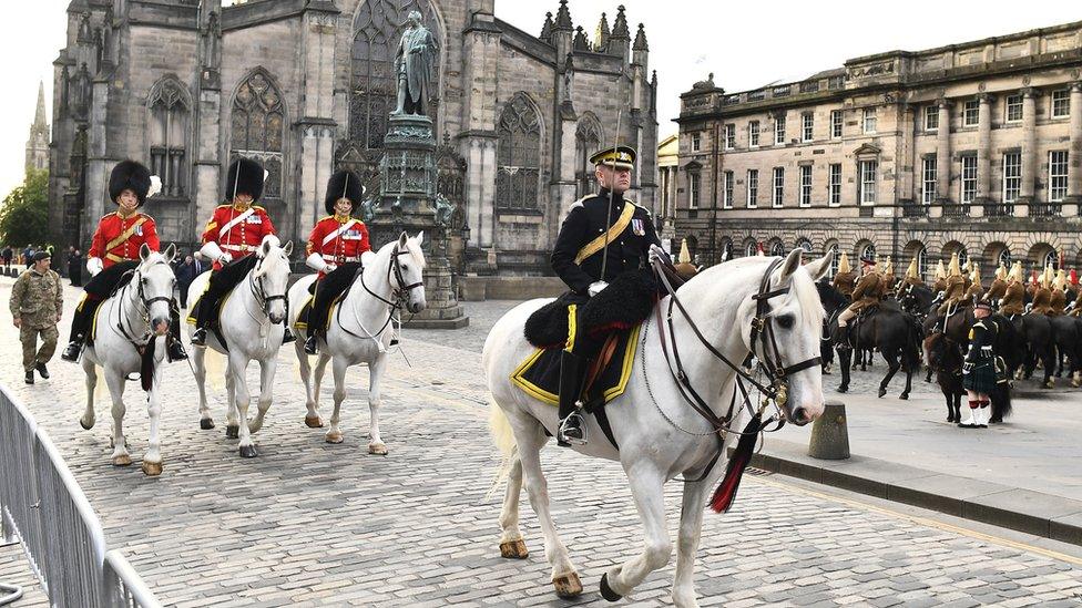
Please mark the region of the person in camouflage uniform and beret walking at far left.
<svg viewBox="0 0 1082 608"><path fill-rule="evenodd" d="M57 351L57 323L64 308L64 290L60 286L60 275L50 270L51 258L47 251L38 251L31 260L29 270L19 276L11 288L11 322L19 328L22 341L22 368L27 372L27 384L33 384L34 370L41 378L49 378L45 363ZM38 336L41 334L41 349Z"/></svg>

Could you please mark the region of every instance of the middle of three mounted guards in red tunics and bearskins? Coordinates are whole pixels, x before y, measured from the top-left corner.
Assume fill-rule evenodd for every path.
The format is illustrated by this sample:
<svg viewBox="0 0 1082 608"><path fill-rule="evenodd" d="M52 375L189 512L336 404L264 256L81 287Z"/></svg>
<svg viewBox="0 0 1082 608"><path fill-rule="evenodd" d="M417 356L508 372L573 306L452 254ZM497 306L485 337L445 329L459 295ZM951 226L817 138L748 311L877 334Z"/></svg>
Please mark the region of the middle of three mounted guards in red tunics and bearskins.
<svg viewBox="0 0 1082 608"><path fill-rule="evenodd" d="M229 203L214 209L203 230L200 253L214 262L214 268L193 313L193 344L202 347L206 343L206 329L215 320L222 297L255 267L258 260L252 254L263 238L275 234L267 210L254 204L263 196L265 178L263 165L249 158L237 158L229 165L225 189ZM293 333L286 327L283 342L293 340Z"/></svg>

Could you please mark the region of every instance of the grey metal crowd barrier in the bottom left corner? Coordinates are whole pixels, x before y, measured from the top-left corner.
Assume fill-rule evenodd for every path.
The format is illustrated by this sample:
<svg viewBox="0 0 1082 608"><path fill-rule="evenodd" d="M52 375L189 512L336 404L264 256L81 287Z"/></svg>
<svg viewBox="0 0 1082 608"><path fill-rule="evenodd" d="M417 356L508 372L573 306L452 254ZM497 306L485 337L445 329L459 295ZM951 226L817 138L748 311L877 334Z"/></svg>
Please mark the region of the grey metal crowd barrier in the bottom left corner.
<svg viewBox="0 0 1082 608"><path fill-rule="evenodd" d="M101 522L52 440L0 387L0 523L18 538L58 608L160 606L124 557L109 552Z"/></svg>

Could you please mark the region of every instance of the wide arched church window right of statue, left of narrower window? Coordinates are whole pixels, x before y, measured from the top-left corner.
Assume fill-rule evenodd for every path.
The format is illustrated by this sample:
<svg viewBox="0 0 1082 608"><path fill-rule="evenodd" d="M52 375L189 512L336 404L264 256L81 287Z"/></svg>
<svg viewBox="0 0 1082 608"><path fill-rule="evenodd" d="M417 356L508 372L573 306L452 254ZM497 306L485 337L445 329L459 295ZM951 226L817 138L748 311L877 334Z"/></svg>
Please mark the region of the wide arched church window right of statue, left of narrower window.
<svg viewBox="0 0 1082 608"><path fill-rule="evenodd" d="M537 209L541 189L541 117L525 95L518 93L503 106L496 177L496 205Z"/></svg>

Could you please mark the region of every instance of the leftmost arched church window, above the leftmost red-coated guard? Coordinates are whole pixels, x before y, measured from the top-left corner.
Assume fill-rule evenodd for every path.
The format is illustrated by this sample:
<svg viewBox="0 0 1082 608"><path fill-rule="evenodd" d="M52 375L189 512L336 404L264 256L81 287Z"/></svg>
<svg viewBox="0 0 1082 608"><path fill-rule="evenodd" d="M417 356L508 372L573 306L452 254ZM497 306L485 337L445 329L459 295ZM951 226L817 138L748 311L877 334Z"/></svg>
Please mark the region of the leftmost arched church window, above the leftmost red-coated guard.
<svg viewBox="0 0 1082 608"><path fill-rule="evenodd" d="M190 103L183 85L173 78L160 80L146 100L150 168L152 174L161 177L165 196L184 196L187 188L185 144Z"/></svg>

